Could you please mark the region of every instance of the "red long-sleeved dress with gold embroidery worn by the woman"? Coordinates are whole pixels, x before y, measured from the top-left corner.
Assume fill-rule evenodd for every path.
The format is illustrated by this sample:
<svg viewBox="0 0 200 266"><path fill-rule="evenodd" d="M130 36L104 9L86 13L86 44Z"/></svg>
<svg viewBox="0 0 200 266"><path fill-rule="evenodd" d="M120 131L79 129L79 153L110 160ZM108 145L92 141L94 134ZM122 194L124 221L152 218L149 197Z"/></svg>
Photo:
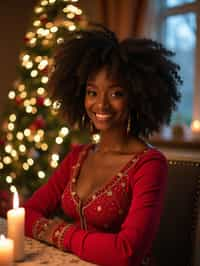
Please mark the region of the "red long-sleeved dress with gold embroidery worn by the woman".
<svg viewBox="0 0 200 266"><path fill-rule="evenodd" d="M74 223L54 235L60 248L98 265L139 266L158 229L167 176L165 157L148 148L82 203L76 193L80 167L92 145L74 148L48 183L26 202L25 231L37 237L58 205Z"/></svg>

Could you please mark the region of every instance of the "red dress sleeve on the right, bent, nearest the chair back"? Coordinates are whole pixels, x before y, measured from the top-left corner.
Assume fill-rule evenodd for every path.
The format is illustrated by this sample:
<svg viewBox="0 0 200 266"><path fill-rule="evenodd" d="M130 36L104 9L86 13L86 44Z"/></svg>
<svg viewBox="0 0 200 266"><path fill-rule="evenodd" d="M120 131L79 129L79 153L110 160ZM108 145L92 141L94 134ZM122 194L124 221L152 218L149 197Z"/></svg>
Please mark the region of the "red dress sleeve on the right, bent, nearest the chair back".
<svg viewBox="0 0 200 266"><path fill-rule="evenodd" d="M64 236L66 250L98 265L141 264L158 229L167 176L162 155L146 157L137 171L129 173L133 196L120 232L85 231L72 225Z"/></svg>

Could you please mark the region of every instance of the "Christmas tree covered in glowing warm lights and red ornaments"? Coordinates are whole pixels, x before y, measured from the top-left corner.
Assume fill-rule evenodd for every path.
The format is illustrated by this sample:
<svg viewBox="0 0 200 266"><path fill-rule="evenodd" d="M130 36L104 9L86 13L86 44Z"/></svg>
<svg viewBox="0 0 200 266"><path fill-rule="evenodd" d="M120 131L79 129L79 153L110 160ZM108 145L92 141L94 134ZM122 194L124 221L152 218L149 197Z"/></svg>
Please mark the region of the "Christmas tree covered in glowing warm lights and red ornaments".
<svg viewBox="0 0 200 266"><path fill-rule="evenodd" d="M34 8L1 129L1 190L17 188L23 197L31 195L69 151L72 138L85 141L83 133L69 130L61 119L60 105L48 95L47 86L55 47L71 31L86 26L78 0L41 0Z"/></svg>

